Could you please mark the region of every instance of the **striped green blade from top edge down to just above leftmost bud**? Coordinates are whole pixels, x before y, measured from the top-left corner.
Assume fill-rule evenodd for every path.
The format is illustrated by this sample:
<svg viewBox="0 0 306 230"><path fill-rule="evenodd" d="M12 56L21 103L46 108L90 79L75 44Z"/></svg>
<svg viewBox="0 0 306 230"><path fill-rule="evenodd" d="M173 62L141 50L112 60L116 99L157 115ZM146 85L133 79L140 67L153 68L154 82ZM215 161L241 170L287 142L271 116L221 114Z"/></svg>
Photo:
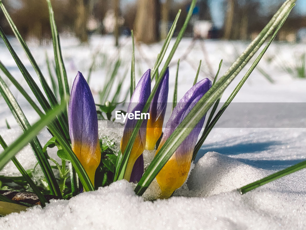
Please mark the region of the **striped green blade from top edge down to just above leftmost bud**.
<svg viewBox="0 0 306 230"><path fill-rule="evenodd" d="M59 40L57 27L55 24L52 5L51 5L50 0L46 0L46 1L48 3L48 10L49 10L49 20L50 20L50 27L51 27L51 33L52 33L53 48L54 48L56 74L58 76L58 88L59 88L61 99L64 99L70 95L67 73L66 73L66 69L65 69L65 65L63 61L61 44Z"/></svg>

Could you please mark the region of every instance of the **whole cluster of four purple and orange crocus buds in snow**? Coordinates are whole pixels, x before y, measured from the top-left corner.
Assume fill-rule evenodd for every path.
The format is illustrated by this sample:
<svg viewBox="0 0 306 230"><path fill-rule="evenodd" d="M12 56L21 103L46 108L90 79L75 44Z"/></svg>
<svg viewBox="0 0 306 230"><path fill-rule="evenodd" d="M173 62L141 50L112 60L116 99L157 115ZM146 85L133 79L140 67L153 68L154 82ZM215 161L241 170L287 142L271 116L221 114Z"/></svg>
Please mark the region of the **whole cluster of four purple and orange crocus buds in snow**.
<svg viewBox="0 0 306 230"><path fill-rule="evenodd" d="M210 89L211 81L203 79L181 98L174 108L169 121L157 148L156 154L163 144L174 132L177 126L184 120L193 106ZM169 89L169 69L167 68L162 81L150 104L150 118L144 120L137 133L132 146L129 161L126 167L124 178L129 182L138 182L144 173L144 149L154 150L156 142L162 135L162 125L166 113L166 105ZM147 70L138 82L127 110L127 113L142 111L151 93L151 71ZM168 198L186 180L191 165L192 153L203 127L203 118L192 129L187 138L177 148L165 166L156 176L156 180L162 191L160 198ZM127 118L124 124L123 136L121 139L121 152L124 153L128 141L135 128L137 120ZM188 127L186 127L188 128ZM95 170L99 165L101 152L98 140L98 121L95 111L95 103L89 86L83 75L78 72L71 90L69 102L69 132L72 142L72 149L91 182L94 184Z"/></svg>

